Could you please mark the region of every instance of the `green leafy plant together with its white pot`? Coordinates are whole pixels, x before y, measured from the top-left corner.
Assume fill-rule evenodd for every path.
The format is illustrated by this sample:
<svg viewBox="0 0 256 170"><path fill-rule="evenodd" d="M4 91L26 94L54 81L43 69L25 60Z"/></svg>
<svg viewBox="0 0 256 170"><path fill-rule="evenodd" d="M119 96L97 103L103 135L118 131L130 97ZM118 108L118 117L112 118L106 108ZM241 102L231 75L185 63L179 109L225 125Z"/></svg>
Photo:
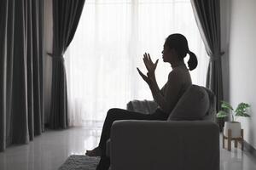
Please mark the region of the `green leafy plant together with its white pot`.
<svg viewBox="0 0 256 170"><path fill-rule="evenodd" d="M247 116L247 109L250 107L250 105L246 103L240 103L237 105L236 110L234 111L233 107L230 105L230 103L226 101L221 101L221 108L222 111L218 111L217 117L226 117L231 115L231 121L224 123L224 136L228 136L228 130L231 129L231 138L240 138L241 136L241 123L236 122L235 116Z"/></svg>

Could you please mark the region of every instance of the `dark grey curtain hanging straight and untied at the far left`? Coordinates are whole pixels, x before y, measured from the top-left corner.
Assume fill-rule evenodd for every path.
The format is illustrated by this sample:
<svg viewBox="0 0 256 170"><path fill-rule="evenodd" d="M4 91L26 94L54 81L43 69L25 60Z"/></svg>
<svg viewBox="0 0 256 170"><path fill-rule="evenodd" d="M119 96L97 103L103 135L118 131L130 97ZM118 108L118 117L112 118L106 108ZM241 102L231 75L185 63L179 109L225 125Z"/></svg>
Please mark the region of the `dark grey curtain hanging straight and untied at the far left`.
<svg viewBox="0 0 256 170"><path fill-rule="evenodd" d="M0 1L0 151L44 131L44 1Z"/></svg>

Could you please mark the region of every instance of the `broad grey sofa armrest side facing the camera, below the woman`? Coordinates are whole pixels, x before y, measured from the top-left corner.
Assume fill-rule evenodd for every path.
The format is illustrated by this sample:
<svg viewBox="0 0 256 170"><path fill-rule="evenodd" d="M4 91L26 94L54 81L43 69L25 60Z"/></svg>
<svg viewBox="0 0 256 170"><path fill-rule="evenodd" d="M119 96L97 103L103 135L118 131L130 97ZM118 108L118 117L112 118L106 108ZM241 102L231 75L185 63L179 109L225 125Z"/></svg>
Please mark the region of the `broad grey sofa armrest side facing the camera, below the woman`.
<svg viewBox="0 0 256 170"><path fill-rule="evenodd" d="M218 132L208 121L113 122L112 170L218 170Z"/></svg>

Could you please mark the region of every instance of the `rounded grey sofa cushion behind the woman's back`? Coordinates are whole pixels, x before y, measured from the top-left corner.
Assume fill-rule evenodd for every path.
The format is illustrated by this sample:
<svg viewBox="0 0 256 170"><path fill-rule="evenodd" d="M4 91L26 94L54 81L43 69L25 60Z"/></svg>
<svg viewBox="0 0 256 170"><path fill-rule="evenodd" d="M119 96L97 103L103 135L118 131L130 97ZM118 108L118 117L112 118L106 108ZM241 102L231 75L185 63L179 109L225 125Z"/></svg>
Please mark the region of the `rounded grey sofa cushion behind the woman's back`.
<svg viewBox="0 0 256 170"><path fill-rule="evenodd" d="M178 100L167 120L202 120L209 109L207 91L200 86L191 85Z"/></svg>

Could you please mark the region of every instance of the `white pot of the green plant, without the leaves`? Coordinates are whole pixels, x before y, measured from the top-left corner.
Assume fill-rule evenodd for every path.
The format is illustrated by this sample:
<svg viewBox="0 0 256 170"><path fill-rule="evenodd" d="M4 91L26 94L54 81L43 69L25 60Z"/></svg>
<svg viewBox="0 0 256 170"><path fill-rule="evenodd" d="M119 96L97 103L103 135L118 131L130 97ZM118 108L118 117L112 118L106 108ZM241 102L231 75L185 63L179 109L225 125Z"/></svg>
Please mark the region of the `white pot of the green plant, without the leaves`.
<svg viewBox="0 0 256 170"><path fill-rule="evenodd" d="M241 123L240 122L225 122L224 136L228 137L228 130L231 130L231 138L241 137Z"/></svg>

